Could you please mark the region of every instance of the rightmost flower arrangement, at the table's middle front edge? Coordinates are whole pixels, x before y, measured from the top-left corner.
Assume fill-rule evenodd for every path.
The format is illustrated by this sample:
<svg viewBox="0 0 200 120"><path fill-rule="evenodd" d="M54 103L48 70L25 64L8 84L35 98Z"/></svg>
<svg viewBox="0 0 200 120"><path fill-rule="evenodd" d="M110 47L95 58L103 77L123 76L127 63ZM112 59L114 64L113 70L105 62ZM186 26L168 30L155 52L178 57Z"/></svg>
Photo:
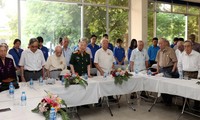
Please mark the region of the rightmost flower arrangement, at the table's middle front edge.
<svg viewBox="0 0 200 120"><path fill-rule="evenodd" d="M118 68L117 70L114 70L112 72L112 76L115 79L115 84L122 84L123 81L128 81L128 79L130 78L130 76L132 76L132 74L128 73L128 71L124 71L121 70L120 68Z"/></svg>

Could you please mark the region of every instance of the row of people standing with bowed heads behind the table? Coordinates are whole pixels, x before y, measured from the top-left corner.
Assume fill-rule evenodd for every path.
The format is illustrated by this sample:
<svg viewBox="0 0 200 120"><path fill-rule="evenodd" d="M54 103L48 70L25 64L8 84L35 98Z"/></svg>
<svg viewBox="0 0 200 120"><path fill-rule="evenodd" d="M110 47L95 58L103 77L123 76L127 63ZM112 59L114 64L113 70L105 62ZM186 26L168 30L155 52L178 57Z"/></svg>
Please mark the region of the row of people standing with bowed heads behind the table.
<svg viewBox="0 0 200 120"><path fill-rule="evenodd" d="M46 76L58 78L61 71L67 69L72 74L87 74L91 77L91 68L97 69L97 75L103 75L111 72L115 64L124 65L126 56L121 39L116 40L116 47L109 42L107 34L103 35L100 46L96 40L96 35L91 36L89 44L87 39L80 39L75 51L72 51L69 38L63 37L51 56L48 56L48 49L43 46L43 38L40 36L30 39L26 50L20 48L19 39L14 40L14 46L9 51L8 46L1 43L1 91L8 89L10 82L18 87L17 76L20 81L37 80L40 77L44 79ZM144 46L142 40L131 41L127 52L130 71L147 71L156 64L153 74L163 73L164 77L177 78L182 71L189 78L200 78L200 44L195 42L194 34L186 41L174 39L171 46L165 38L153 38L148 50ZM166 104L171 104L171 95L162 94L162 97ZM196 101L195 106L199 106L199 102Z"/></svg>

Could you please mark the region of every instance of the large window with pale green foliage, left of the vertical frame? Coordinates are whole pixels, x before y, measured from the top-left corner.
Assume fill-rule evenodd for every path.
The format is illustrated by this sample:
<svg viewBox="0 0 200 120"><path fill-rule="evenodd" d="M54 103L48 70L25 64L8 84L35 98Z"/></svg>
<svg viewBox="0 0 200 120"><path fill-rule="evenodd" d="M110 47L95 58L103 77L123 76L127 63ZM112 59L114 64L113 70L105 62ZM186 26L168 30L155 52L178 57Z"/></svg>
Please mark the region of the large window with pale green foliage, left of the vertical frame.
<svg viewBox="0 0 200 120"><path fill-rule="evenodd" d="M60 37L68 36L71 46L77 44L81 32L81 10L76 4L50 1L21 1L22 45L32 37L42 36L50 47Z"/></svg>

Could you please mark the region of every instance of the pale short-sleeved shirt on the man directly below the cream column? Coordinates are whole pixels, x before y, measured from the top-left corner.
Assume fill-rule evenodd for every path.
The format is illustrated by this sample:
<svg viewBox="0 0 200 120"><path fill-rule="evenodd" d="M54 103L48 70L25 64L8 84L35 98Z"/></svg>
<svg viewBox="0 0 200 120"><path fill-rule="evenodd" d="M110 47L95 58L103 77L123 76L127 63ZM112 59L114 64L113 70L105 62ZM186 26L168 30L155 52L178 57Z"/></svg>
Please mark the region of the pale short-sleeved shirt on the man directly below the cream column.
<svg viewBox="0 0 200 120"><path fill-rule="evenodd" d="M139 51L138 48L134 49L131 52L130 61L134 62L134 70L137 68L138 71L142 71L146 69L145 62L149 60L149 56L145 49Z"/></svg>

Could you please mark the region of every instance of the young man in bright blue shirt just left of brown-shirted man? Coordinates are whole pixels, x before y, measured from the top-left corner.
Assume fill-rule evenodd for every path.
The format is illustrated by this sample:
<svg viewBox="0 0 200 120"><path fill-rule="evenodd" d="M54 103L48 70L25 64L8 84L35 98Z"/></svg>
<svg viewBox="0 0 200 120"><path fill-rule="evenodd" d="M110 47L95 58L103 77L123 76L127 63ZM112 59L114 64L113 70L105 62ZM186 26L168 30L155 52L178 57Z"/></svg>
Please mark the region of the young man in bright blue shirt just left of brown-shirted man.
<svg viewBox="0 0 200 120"><path fill-rule="evenodd" d="M149 55L149 67L151 67L153 64L156 64L156 55L157 55L157 52L158 50L160 49L160 47L157 46L158 44L158 38L153 38L152 39L152 45L149 46L149 49L148 49L148 55Z"/></svg>

